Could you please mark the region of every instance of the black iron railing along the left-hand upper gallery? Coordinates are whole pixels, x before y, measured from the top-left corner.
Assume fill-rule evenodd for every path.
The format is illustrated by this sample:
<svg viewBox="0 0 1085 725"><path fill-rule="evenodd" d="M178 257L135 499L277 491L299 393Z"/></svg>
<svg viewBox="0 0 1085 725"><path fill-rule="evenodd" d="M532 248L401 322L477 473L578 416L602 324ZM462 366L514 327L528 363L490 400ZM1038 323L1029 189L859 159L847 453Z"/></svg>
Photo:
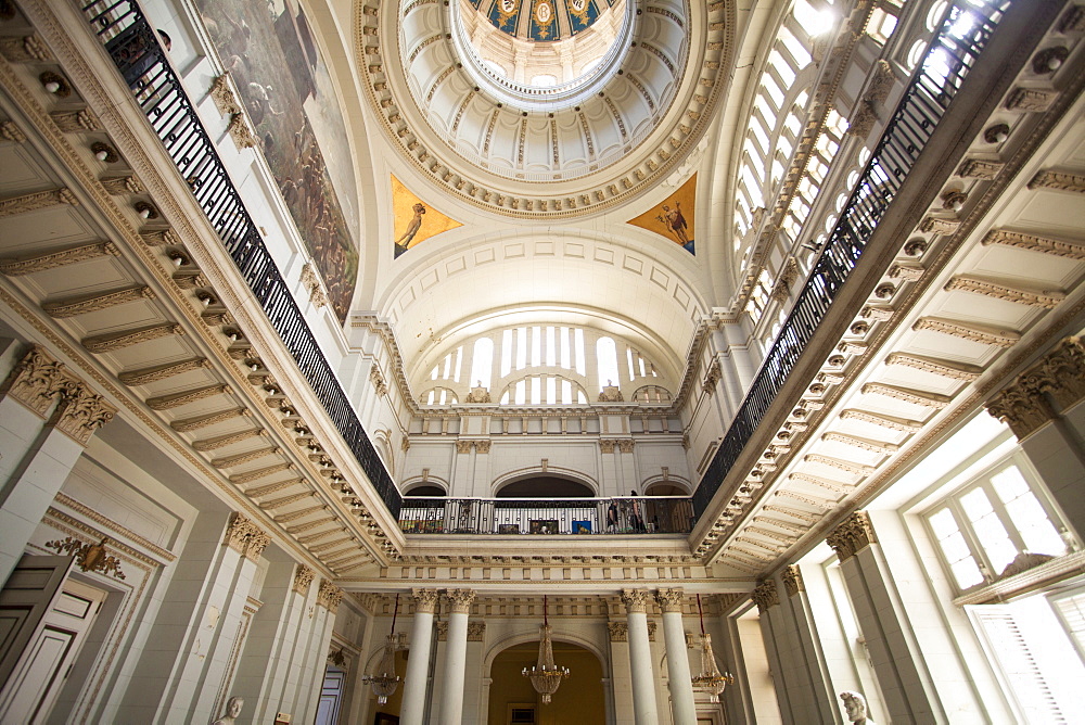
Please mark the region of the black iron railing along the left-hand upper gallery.
<svg viewBox="0 0 1085 725"><path fill-rule="evenodd" d="M82 11L314 395L392 516L397 517L403 503L399 491L264 245L215 144L170 68L154 28L132 0L90 2L82 5Z"/></svg>

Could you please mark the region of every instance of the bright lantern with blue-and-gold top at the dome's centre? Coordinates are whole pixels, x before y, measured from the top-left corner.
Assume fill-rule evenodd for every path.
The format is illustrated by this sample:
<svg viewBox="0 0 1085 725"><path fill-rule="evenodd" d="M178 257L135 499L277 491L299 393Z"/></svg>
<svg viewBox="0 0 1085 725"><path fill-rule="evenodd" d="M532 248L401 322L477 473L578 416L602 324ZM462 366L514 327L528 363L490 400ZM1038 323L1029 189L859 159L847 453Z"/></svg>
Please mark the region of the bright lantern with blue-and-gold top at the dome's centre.
<svg viewBox="0 0 1085 725"><path fill-rule="evenodd" d="M475 82L525 110L574 105L617 69L631 0L454 0L457 50Z"/></svg>

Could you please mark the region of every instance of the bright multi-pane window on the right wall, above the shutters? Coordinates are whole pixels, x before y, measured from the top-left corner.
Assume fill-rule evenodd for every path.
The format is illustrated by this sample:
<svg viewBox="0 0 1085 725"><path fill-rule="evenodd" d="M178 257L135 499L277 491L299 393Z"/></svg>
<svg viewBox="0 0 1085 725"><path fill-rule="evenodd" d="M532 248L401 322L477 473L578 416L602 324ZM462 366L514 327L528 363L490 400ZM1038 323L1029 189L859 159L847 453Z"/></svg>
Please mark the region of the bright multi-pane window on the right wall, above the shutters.
<svg viewBox="0 0 1085 725"><path fill-rule="evenodd" d="M961 589L998 578L1019 554L1067 552L1061 524L1012 460L981 474L926 518Z"/></svg>

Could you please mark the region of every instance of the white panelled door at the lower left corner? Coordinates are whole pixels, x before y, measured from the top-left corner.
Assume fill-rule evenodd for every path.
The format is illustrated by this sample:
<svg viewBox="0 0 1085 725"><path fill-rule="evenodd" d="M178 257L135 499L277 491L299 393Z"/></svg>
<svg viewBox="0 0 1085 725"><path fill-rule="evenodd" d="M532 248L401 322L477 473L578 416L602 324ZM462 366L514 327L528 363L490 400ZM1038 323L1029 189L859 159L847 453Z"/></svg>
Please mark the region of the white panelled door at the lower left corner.
<svg viewBox="0 0 1085 725"><path fill-rule="evenodd" d="M66 580L0 690L0 723L42 723L64 686L106 593Z"/></svg>

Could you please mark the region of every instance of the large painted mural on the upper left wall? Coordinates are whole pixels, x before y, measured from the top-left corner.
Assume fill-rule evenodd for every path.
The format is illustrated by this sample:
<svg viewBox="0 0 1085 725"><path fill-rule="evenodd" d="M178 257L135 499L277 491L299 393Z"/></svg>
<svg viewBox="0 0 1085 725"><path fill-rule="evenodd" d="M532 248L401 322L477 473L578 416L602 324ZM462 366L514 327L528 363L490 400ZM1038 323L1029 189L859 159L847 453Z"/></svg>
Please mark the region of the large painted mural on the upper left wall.
<svg viewBox="0 0 1085 725"><path fill-rule="evenodd" d="M196 0L286 208L346 320L358 276L358 191L346 125L293 0Z"/></svg>

